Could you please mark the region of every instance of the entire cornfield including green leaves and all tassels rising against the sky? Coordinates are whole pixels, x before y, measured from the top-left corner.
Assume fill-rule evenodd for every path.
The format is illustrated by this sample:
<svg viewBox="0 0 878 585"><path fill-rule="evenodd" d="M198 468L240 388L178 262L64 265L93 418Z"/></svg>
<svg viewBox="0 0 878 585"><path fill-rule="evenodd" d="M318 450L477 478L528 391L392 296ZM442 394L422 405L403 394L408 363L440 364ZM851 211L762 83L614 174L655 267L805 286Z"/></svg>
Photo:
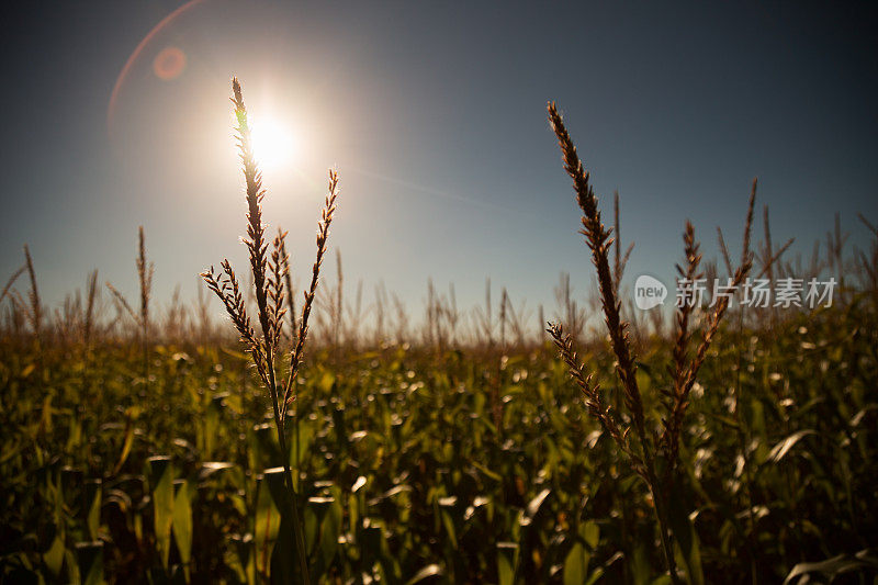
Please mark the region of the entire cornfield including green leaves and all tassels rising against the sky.
<svg viewBox="0 0 878 585"><path fill-rule="evenodd" d="M811 261L840 283L832 306L720 300L626 325L637 313L620 301L618 211L605 227L550 104L593 302L578 307L562 277L552 324L542 307L526 324L505 290L468 313L430 286L423 319L383 293L365 327L342 301L340 258L335 281L320 273L338 175L300 304L284 234L261 220L237 81L233 101L251 278L227 262L203 277L234 335L203 299L150 306L143 230L138 302L93 273L52 311L26 248L2 291L0 582L878 580L866 217L871 250L847 251L836 220ZM740 261L723 245L702 262L680 217L680 278L807 272L788 244L773 249L767 210L751 246L755 194L754 182Z"/></svg>

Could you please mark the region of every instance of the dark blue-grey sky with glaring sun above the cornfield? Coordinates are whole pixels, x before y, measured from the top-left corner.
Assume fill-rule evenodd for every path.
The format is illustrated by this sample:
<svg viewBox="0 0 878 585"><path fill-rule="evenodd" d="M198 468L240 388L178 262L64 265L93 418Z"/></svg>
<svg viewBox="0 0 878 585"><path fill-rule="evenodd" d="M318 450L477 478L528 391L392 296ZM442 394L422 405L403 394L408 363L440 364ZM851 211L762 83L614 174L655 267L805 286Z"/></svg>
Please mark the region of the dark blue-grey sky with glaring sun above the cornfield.
<svg viewBox="0 0 878 585"><path fill-rule="evenodd" d="M335 167L325 268L340 249L348 294L383 282L417 313L432 279L466 307L491 278L549 315L565 271L585 295L548 100L606 220L620 193L628 282L671 282L687 218L707 258L717 226L738 254L754 177L776 243L810 255L837 212L865 248L876 26L865 3L19 2L0 24L0 280L26 243L49 305L95 268L133 299L139 225L159 302L194 299L224 257L245 270L233 76L286 136L264 218L300 286Z"/></svg>

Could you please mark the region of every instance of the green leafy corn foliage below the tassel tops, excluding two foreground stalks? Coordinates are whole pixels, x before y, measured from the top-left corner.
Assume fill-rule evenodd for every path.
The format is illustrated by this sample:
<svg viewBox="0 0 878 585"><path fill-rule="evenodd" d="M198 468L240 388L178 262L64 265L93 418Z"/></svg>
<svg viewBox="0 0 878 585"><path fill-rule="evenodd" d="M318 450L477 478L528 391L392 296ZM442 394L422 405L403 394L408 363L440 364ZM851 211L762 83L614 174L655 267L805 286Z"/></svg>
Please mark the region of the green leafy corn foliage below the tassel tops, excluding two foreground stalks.
<svg viewBox="0 0 878 585"><path fill-rule="evenodd" d="M874 566L855 553L878 533L876 331L874 294L721 331L673 498L703 582L753 564L779 582L840 551L828 573ZM120 583L258 582L291 560L267 396L234 345L150 347L148 380L137 345L46 346L2 345L4 581L86 580L97 563ZM612 389L607 351L582 357ZM667 345L638 359L658 416ZM311 361L289 434L315 580L660 575L651 500L551 348Z"/></svg>

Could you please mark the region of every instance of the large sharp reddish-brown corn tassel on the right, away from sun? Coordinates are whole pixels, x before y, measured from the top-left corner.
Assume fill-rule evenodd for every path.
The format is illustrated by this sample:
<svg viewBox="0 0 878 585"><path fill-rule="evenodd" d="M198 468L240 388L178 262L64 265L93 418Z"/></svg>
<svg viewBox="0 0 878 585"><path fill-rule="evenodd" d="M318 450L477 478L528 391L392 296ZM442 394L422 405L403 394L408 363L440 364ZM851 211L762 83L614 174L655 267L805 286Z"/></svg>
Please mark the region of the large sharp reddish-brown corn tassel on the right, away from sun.
<svg viewBox="0 0 878 585"><path fill-rule="evenodd" d="M687 345L689 340L688 319L691 307L684 303L677 312L677 335L673 353L673 374L674 387L663 391L664 405L667 408L667 416L662 419L664 427L661 436L649 430L645 423L643 401L638 386L637 365L633 358L632 345L628 335L628 323L622 320L620 315L621 303L618 300L619 282L621 279L621 265L619 248L616 252L616 282L614 272L610 271L609 248L614 244L610 237L612 228L607 229L601 220L600 211L597 205L597 198L589 183L588 172L585 170L576 146L564 126L564 121L558 112L553 102L549 103L549 122L558 137L561 147L564 170L573 179L573 189L576 192L576 202L582 210L581 234L585 236L585 241L592 251L592 262L597 272L598 289L600 293L601 308L604 312L605 324L609 333L610 347L616 356L616 373L621 382L624 409L628 410L631 424L627 425L610 406L605 406L597 384L593 384L590 375L585 374L585 367L576 358L573 350L573 341L570 335L564 335L559 325L550 325L549 333L554 338L559 348L561 359L567 364L570 375L581 387L586 397L586 406L589 414L600 423L604 430L616 441L622 453L631 463L634 472L641 476L650 490L653 499L653 509L658 525L662 540L662 549L665 554L665 563L672 583L679 583L674 549L672 545L672 529L668 518L672 491L675 490L677 480L676 466L678 463L678 449L683 428L683 418L689 405L689 395L695 385L700 367L703 364L708 349L719 330L725 311L729 308L730 296L723 295L714 299L712 310L707 315L707 326L703 337L698 345L693 357L687 356ZM756 198L756 181L753 181L750 203L747 206L746 222L744 225L744 246L741 254L741 263L730 279L731 290L734 291L750 273L753 263L750 252L750 233L753 222L753 205ZM618 200L615 204L617 229L618 229ZM686 224L684 234L686 246L686 268L677 267L678 273L683 278L691 279L697 273L700 256L698 255L698 244L695 241L695 232L690 223ZM728 258L728 251L724 250ZM729 270L731 272L731 262ZM619 408L620 409L620 408ZM629 431L633 428L635 440L629 438ZM660 455L662 459L660 459ZM664 461L661 469L656 469L656 461ZM660 473L661 472L661 473ZM689 566L691 570L691 566Z"/></svg>

